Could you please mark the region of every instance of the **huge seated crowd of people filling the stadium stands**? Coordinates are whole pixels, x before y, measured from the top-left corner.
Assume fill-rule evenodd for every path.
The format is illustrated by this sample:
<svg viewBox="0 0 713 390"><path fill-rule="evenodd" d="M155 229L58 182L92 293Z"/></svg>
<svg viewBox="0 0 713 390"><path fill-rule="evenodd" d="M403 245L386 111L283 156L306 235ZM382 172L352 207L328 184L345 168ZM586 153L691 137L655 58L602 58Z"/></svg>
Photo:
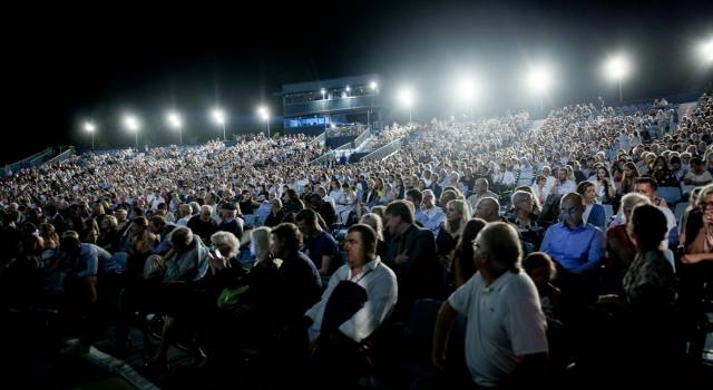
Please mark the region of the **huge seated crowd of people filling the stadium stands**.
<svg viewBox="0 0 713 390"><path fill-rule="evenodd" d="M0 189L3 310L57 308L67 353L107 329L130 352L152 313L149 373L191 334L212 378L266 387L678 376L712 296L712 126L704 94L681 118L599 100L394 125L382 162L311 166L321 144L257 136L22 169Z"/></svg>

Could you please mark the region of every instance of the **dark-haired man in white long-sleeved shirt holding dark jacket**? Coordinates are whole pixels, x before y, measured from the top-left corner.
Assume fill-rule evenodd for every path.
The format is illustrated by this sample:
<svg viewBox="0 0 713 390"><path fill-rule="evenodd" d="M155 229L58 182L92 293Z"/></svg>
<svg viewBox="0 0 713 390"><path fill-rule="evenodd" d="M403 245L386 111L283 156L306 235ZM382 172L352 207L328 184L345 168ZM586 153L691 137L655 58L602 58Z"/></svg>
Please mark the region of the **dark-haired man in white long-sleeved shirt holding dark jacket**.
<svg viewBox="0 0 713 390"><path fill-rule="evenodd" d="M336 270L320 302L305 313L311 322L310 367L322 372L320 381L312 383L318 388L354 386L368 372L372 351L364 343L397 303L397 276L375 254L375 232L368 225L352 225L344 248L348 263Z"/></svg>

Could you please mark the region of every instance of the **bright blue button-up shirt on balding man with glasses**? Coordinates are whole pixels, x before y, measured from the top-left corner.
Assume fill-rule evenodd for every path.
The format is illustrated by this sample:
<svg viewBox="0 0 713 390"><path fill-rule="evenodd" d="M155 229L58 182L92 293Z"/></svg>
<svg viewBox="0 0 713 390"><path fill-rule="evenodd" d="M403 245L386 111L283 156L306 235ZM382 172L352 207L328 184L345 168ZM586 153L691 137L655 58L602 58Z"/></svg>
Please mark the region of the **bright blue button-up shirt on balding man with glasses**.
<svg viewBox="0 0 713 390"><path fill-rule="evenodd" d="M563 269L582 273L599 265L604 259L604 233L590 224L570 231L563 222L549 226L540 251L553 256Z"/></svg>

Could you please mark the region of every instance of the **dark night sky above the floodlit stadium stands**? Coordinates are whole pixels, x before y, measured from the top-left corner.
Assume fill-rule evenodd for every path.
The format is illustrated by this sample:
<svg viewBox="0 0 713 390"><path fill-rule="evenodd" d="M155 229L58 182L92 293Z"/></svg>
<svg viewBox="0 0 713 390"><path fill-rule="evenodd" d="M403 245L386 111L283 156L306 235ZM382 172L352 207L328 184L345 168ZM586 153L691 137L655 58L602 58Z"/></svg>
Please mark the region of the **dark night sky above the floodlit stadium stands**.
<svg viewBox="0 0 713 390"><path fill-rule="evenodd" d="M422 119L453 111L447 89L475 70L487 85L484 113L535 107L522 88L527 64L557 68L549 104L616 97L602 59L625 49L636 71L625 97L641 99L699 89L711 77L693 47L713 36L711 1L293 1L146 6L30 6L3 12L4 129L0 163L48 145L88 145L82 118L100 126L97 145L126 146L123 110L147 123L155 139L176 105L188 131L215 130L206 109L219 101L235 130L257 128L254 109L283 82L378 72L383 97L397 86L418 90ZM297 4L299 3L299 4ZM52 8L55 7L55 8ZM400 110L390 114L397 118ZM163 131L163 133L162 133Z"/></svg>

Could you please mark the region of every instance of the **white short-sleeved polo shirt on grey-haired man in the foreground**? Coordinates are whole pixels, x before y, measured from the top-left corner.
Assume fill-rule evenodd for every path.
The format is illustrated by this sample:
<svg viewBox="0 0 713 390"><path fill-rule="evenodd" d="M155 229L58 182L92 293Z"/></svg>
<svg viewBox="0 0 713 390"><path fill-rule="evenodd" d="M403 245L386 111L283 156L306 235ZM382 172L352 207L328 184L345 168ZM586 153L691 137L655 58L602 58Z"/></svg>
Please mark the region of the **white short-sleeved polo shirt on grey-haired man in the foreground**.
<svg viewBox="0 0 713 390"><path fill-rule="evenodd" d="M525 271L506 272L490 286L478 272L448 303L468 316L466 363L479 386L501 384L517 367L517 357L548 351L547 320Z"/></svg>

